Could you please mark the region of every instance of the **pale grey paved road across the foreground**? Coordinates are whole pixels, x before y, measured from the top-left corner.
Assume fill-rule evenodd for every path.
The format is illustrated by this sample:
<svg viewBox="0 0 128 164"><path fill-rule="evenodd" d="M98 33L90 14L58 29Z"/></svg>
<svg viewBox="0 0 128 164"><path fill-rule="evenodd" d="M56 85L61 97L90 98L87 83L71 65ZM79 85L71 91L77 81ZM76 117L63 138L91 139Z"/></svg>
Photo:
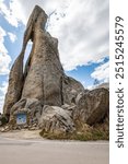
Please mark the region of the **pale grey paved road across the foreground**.
<svg viewBox="0 0 128 164"><path fill-rule="evenodd" d="M0 164L108 164L108 142L15 140L0 137Z"/></svg>

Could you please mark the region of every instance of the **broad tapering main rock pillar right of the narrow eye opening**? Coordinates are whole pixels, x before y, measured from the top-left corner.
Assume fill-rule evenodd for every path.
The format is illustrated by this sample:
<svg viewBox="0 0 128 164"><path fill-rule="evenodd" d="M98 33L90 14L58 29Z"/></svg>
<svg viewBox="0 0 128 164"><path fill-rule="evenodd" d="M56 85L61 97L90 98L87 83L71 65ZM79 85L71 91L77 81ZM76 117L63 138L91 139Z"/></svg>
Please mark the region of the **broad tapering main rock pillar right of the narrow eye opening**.
<svg viewBox="0 0 128 164"><path fill-rule="evenodd" d="M26 63L22 97L61 105L60 78L63 70L56 52L57 44L55 46L56 42L53 42L56 39L42 27L46 20L47 15L40 11L33 27L33 48Z"/></svg>

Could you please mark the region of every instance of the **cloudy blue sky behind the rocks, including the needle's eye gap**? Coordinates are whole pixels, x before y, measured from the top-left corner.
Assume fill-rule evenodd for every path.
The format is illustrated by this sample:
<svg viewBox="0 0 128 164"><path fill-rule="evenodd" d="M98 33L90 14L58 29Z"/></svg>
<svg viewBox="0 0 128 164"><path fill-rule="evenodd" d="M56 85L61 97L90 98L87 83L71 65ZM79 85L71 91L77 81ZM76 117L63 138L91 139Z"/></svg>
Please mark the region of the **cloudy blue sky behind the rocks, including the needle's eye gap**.
<svg viewBox="0 0 128 164"><path fill-rule="evenodd" d="M0 0L0 110L10 68L19 56L25 24L35 4L49 16L47 31L59 39L66 73L91 87L108 82L108 0ZM101 7L101 8L100 8ZM27 45L25 60L31 44Z"/></svg>

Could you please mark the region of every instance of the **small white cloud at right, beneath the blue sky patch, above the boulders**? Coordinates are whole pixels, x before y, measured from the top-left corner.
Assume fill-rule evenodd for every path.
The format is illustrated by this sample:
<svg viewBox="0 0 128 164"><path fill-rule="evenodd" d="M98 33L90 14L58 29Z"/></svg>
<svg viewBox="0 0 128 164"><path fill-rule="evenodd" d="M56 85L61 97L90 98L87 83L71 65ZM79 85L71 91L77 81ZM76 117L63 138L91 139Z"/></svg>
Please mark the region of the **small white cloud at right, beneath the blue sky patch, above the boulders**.
<svg viewBox="0 0 128 164"><path fill-rule="evenodd" d="M91 77L102 82L108 82L109 81L109 62L107 61L101 65L100 67L95 68Z"/></svg>

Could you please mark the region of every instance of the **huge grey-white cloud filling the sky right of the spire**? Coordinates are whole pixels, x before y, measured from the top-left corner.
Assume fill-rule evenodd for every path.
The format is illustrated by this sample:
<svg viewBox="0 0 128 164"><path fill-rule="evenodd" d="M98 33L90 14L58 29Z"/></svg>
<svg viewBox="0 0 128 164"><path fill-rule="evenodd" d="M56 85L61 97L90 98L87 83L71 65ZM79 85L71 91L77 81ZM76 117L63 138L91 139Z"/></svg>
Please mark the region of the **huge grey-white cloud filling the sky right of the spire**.
<svg viewBox="0 0 128 164"><path fill-rule="evenodd" d="M60 16L63 12L65 17ZM108 1L71 1L67 9L58 8L51 15L48 31L59 38L60 59L65 70L90 62L101 62L108 56ZM59 19L58 21L56 19Z"/></svg>

